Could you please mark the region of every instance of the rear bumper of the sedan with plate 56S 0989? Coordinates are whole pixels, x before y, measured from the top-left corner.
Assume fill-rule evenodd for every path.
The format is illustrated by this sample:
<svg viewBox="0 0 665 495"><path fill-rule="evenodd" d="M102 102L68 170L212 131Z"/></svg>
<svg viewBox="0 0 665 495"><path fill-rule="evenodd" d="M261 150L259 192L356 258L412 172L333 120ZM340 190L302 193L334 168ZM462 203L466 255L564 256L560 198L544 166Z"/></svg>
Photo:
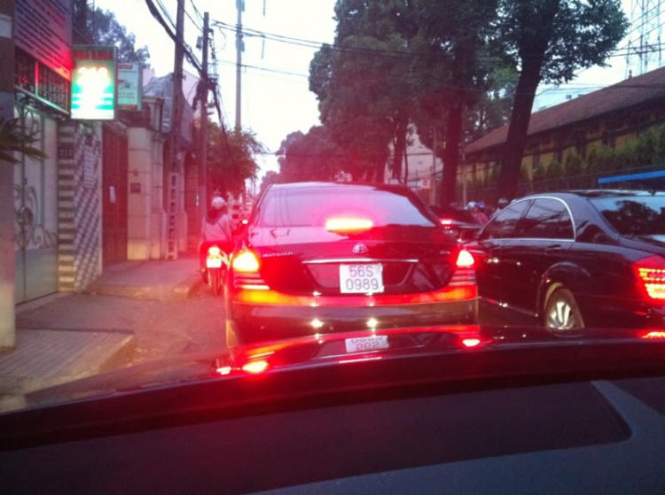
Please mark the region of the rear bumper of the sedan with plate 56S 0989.
<svg viewBox="0 0 665 495"><path fill-rule="evenodd" d="M478 300L387 306L279 306L231 302L227 325L239 343L349 330L473 324Z"/></svg>

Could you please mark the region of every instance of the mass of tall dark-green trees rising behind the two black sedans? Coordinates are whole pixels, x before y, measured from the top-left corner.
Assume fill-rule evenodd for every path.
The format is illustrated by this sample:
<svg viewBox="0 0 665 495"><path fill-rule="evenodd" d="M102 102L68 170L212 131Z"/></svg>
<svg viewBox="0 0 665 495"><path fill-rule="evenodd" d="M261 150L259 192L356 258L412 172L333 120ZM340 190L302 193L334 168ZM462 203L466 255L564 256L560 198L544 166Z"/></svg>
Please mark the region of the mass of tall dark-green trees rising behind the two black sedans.
<svg viewBox="0 0 665 495"><path fill-rule="evenodd" d="M628 27L620 0L338 0L335 14L334 42L309 66L322 129L286 148L340 152L356 180L380 181L386 163L401 179L415 129L443 160L443 204L465 144L506 122L500 188L512 197L538 84L604 65ZM294 155L283 170L318 176Z"/></svg>

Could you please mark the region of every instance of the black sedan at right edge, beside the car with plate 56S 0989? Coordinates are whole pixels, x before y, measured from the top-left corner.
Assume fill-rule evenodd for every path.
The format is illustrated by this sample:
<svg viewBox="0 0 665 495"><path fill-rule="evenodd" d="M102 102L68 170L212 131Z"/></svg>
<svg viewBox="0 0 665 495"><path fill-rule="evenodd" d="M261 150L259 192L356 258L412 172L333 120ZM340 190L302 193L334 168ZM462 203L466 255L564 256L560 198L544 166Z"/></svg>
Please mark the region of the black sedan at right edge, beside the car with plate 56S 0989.
<svg viewBox="0 0 665 495"><path fill-rule="evenodd" d="M483 308L552 329L665 326L665 193L522 197L465 247Z"/></svg>

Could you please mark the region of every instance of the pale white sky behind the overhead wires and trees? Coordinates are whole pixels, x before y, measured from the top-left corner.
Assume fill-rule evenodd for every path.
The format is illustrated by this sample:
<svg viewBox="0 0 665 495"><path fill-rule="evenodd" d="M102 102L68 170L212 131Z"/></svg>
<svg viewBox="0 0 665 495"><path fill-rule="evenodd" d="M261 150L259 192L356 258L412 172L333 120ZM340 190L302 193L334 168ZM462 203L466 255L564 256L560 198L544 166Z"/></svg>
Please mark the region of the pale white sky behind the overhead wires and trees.
<svg viewBox="0 0 665 495"><path fill-rule="evenodd" d="M116 18L136 36L136 46L146 45L150 50L150 64L157 76L173 72L174 44L163 27L148 11L145 0L92 0L93 3L115 13ZM235 34L231 27L215 26L215 21L235 26L237 10L235 0L184 0L185 1L185 42L201 60L201 51L196 48L197 37L203 25L203 12L209 12L213 27L213 44L217 71L222 95L223 119L232 128L235 125L236 108L236 50ZM167 23L175 25L176 0L153 0L162 12ZM636 15L636 4L643 0L622 0L624 11L629 18ZM334 16L335 0L245 0L242 24L250 30L269 35L246 36L242 63L246 66L242 73L241 124L251 129L258 140L270 151L257 157L262 174L268 170L278 171L277 151L286 135L300 130L307 133L309 128L319 124L317 98L309 91L309 62L320 43L332 43L336 23ZM655 1L645 4L656 4ZM663 7L665 9L665 7ZM648 28L658 24L653 16L653 8L648 7ZM167 15L168 14L168 15ZM172 20L169 22L168 18ZM661 17L662 18L662 17ZM175 31L175 28L173 28ZM639 34L638 25L630 28L630 35ZM275 36L290 38L288 43L277 41ZM652 39L657 32L652 30ZM272 38L272 39L270 39ZM316 43L300 43L294 40ZM611 67L594 67L581 71L575 81L554 88L542 86L537 91L534 111L565 101L567 95L579 94L600 89L608 84L622 81L627 71L624 40L619 45L622 56L610 58ZM303 46L307 45L307 46ZM211 63L213 58L210 58ZM638 73L638 59L632 58L634 71ZM657 63L651 63L650 69ZM185 70L196 70L185 61Z"/></svg>

